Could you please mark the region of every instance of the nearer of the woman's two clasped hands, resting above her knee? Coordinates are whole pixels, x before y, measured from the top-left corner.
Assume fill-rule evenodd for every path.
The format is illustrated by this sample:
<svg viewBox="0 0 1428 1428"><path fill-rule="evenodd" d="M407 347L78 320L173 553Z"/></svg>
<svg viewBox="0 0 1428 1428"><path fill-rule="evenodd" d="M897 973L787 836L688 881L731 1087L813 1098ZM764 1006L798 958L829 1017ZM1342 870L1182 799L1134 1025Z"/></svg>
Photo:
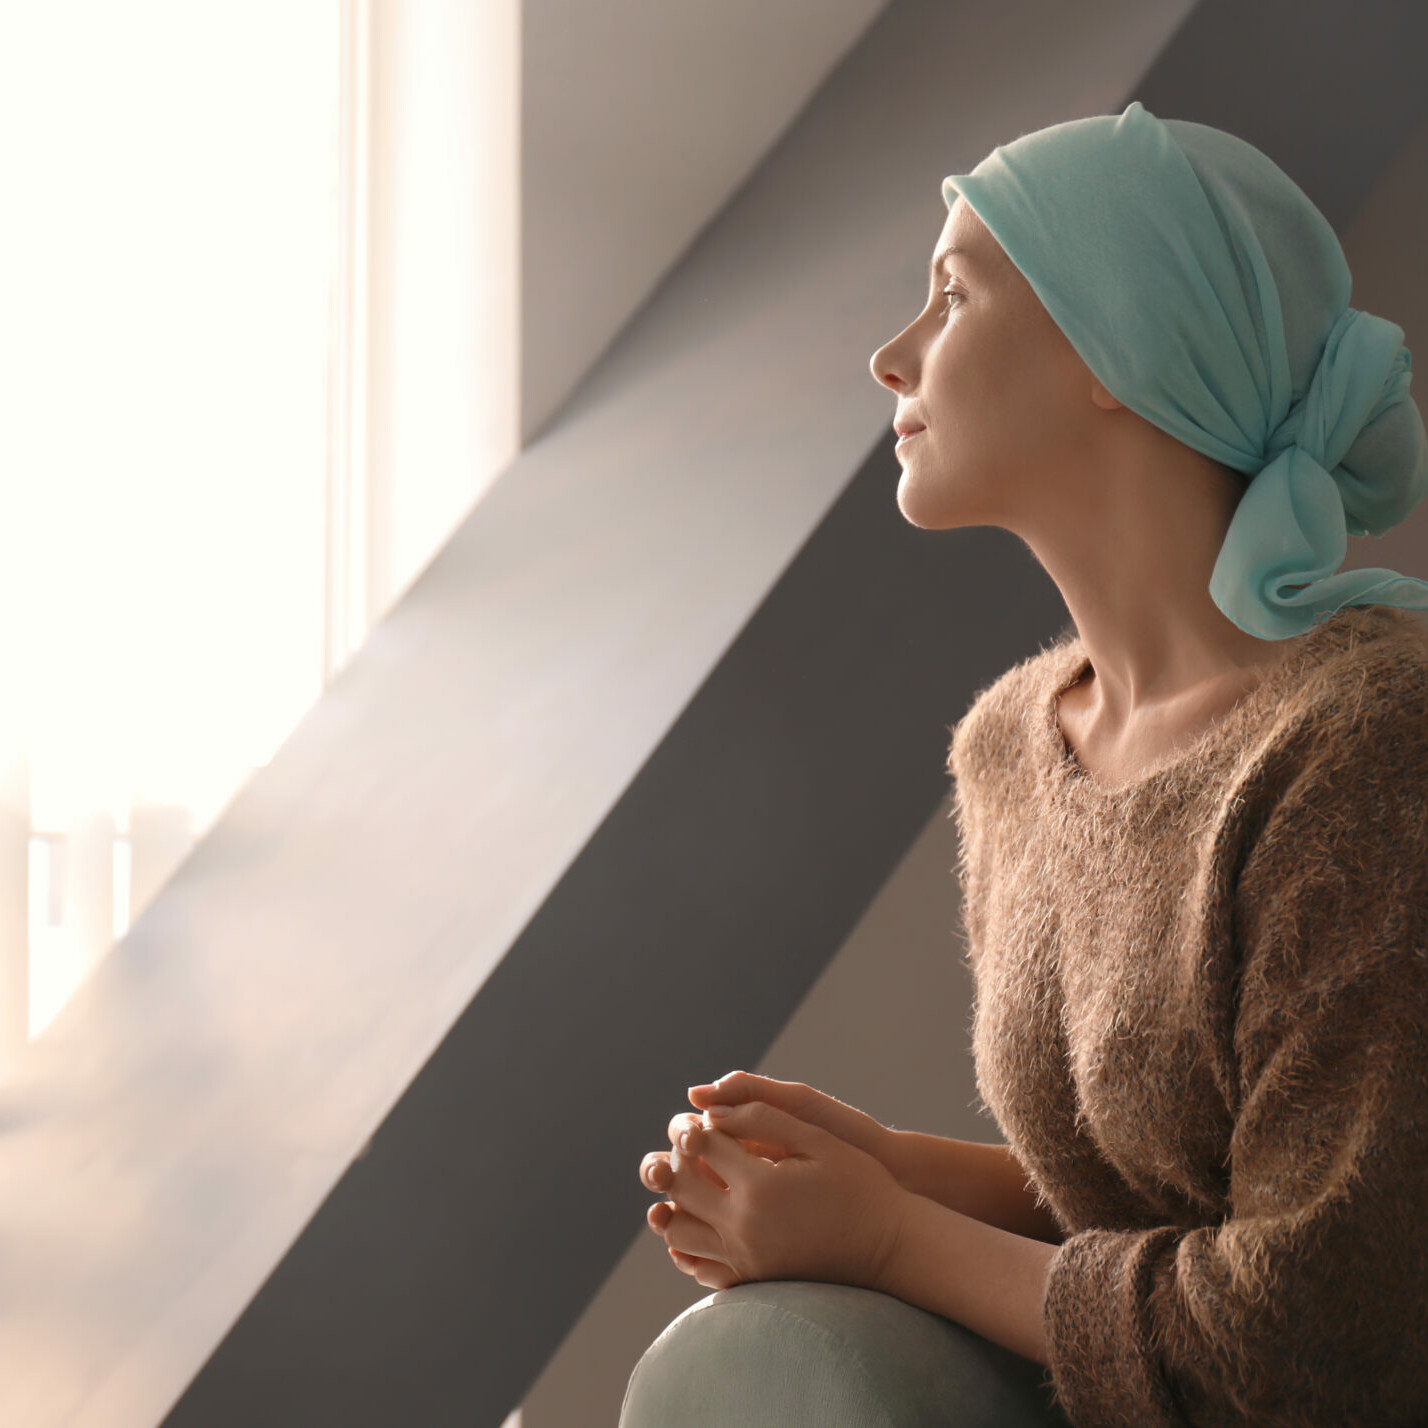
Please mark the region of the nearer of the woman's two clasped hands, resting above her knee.
<svg viewBox="0 0 1428 1428"><path fill-rule="evenodd" d="M878 1288L910 1198L887 1167L767 1101L705 1114L703 1124L687 1115L670 1122L675 1150L657 1178L668 1202L650 1207L650 1227L674 1262L711 1289L748 1279Z"/></svg>

